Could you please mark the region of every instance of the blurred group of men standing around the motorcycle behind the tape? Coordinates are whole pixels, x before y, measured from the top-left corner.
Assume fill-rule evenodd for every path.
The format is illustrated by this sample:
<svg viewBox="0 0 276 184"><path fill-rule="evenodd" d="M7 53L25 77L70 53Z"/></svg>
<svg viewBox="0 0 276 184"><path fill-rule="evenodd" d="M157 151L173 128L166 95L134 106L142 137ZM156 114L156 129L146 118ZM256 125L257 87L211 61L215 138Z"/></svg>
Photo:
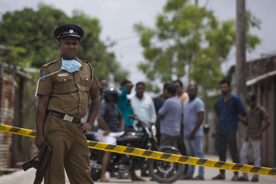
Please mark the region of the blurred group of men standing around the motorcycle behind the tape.
<svg viewBox="0 0 276 184"><path fill-rule="evenodd" d="M138 82L135 85L135 94L131 94L133 84L129 80L123 80L117 101L106 102L103 98L104 89L108 88L108 81L99 79L102 88L99 90L101 105L97 116L98 128L94 128L100 142L116 144L116 139L123 132L133 130L135 122L128 115L136 114L140 120L149 127L155 125L157 128L156 138L159 145L169 145L179 149L182 155L204 158L202 137L204 135L202 122L204 121L205 104L198 97L196 84L189 84L187 92L183 89L183 83L178 79L173 83L165 83L161 94L151 98L147 94L146 85ZM254 165L261 166L261 134L270 125L267 111L256 101L253 93L245 97L248 111L246 112L240 98L231 92L228 80L219 82L221 96L217 100L215 128L212 137L217 141L218 155L220 161L226 161L227 145L234 163L247 164L247 156L253 149ZM116 117L116 118L114 118ZM236 131L238 122L246 125L246 139L242 145L240 154L237 151ZM109 161L112 153L106 152L105 161ZM103 160L103 162L105 162ZM107 181L104 177L108 163L103 163L101 181ZM198 176L194 177L194 165L188 165L181 179L204 180L204 167L199 167ZM115 173L111 173L115 176ZM146 172L142 176L147 176ZM118 178L124 176L118 175ZM131 173L133 181L142 181L135 173ZM214 180L224 180L225 170L213 177ZM238 177L234 172L232 181L249 181L247 173ZM255 174L252 182L258 181Z"/></svg>

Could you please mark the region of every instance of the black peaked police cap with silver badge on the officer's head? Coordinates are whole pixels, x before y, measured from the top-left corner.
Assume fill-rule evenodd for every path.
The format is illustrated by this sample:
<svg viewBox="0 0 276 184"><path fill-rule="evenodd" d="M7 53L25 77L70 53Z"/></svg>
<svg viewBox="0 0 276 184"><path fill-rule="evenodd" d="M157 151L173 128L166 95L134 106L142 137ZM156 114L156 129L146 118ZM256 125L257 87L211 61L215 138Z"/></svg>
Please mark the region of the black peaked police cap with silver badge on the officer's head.
<svg viewBox="0 0 276 184"><path fill-rule="evenodd" d="M79 40L83 38L84 31L83 28L76 24L62 24L55 28L54 36L55 39L59 40L64 36L75 36Z"/></svg>

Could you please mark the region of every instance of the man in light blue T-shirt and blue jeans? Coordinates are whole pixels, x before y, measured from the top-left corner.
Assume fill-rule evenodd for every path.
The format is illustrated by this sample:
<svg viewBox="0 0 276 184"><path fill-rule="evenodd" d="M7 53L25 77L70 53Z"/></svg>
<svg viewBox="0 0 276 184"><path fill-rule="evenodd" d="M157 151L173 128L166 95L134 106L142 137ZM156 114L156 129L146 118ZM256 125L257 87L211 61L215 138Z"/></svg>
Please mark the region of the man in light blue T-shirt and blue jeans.
<svg viewBox="0 0 276 184"><path fill-rule="evenodd" d="M204 103L197 97L197 86L189 85L188 90L190 100L183 103L183 126L184 133L183 139L187 150L187 154L190 157L204 158L204 153L202 149L202 136L203 127L202 121L204 119ZM204 167L199 167L199 174L197 177L193 178L194 165L189 165L187 175L182 179L194 179L194 180L204 180Z"/></svg>

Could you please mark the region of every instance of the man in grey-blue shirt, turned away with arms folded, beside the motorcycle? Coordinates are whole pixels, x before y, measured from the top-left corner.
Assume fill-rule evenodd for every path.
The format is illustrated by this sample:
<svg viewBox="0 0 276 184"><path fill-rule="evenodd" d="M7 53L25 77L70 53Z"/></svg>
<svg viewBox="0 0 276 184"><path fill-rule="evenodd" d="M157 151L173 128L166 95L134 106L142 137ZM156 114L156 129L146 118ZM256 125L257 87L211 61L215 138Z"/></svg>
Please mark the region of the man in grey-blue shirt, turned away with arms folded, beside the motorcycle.
<svg viewBox="0 0 276 184"><path fill-rule="evenodd" d="M159 109L157 117L160 119L160 143L177 147L180 135L181 102L176 96L176 87L173 84L165 86L166 100Z"/></svg>

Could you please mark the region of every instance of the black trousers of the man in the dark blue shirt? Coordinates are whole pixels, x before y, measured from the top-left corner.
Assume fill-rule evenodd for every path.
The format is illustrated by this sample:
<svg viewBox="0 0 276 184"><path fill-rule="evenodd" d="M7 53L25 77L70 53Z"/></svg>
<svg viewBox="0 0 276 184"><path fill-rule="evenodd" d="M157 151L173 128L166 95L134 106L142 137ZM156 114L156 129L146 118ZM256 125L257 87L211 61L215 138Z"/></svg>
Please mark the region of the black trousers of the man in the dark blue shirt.
<svg viewBox="0 0 276 184"><path fill-rule="evenodd" d="M226 148L228 148L233 159L233 163L239 163L239 156L237 151L237 139L236 139L236 130L226 133L226 134L217 134L216 137L218 154L220 161L226 161ZM220 173L224 174L225 170L220 169ZM238 173L234 171L234 173Z"/></svg>

